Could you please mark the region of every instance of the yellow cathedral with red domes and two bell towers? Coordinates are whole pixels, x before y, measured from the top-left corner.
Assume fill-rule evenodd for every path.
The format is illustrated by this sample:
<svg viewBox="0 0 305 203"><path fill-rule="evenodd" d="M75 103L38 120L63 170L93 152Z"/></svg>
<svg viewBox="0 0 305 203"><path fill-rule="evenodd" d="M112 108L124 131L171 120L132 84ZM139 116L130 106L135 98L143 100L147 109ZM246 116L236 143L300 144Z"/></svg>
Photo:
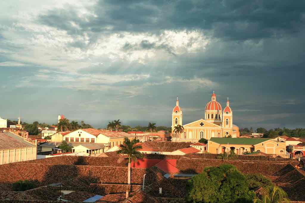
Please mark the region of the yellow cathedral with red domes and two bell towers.
<svg viewBox="0 0 305 203"><path fill-rule="evenodd" d="M175 126L182 125L183 132L177 133ZM204 119L192 123L182 123L182 109L177 97L176 106L172 113L172 141L173 142L198 142L199 139L209 140L212 137L239 137L239 128L233 124L233 111L229 99L227 106L222 110L220 103L216 101L213 91L211 101L206 104Z"/></svg>

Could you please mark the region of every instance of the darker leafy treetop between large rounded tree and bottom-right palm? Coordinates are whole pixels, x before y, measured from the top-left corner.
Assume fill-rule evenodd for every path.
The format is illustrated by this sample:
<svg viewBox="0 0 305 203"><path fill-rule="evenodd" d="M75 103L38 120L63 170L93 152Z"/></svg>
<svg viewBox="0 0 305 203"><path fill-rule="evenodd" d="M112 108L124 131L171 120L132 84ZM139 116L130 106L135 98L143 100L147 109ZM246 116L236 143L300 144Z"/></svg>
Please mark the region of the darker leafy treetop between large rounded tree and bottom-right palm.
<svg viewBox="0 0 305 203"><path fill-rule="evenodd" d="M249 182L249 189L255 190L258 187L263 187L265 189L270 189L273 184L270 179L265 178L262 174L246 174L246 178Z"/></svg>

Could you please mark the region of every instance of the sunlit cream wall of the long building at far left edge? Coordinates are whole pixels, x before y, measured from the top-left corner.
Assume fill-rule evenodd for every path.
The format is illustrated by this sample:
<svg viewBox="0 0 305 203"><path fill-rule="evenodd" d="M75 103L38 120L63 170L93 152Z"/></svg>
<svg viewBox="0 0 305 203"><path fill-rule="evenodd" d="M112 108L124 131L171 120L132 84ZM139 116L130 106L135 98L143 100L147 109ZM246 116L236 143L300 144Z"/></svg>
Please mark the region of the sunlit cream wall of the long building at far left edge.
<svg viewBox="0 0 305 203"><path fill-rule="evenodd" d="M0 164L37 159L37 146L0 150Z"/></svg>

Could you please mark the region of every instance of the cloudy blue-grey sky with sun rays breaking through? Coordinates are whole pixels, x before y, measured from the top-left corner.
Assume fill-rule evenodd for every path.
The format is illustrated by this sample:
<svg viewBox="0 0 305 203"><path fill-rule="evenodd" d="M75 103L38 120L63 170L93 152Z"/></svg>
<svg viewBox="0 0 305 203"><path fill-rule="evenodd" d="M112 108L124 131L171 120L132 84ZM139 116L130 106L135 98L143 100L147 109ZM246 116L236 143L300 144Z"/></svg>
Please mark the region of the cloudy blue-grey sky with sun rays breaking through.
<svg viewBox="0 0 305 203"><path fill-rule="evenodd" d="M305 128L304 47L305 1L1 1L0 117Z"/></svg>

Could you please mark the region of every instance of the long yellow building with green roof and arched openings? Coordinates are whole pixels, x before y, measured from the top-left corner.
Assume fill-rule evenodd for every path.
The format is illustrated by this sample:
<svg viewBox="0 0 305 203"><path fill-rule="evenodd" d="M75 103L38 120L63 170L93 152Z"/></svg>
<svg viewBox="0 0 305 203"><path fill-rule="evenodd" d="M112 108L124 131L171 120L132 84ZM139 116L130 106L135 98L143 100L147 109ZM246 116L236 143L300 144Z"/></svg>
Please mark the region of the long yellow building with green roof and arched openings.
<svg viewBox="0 0 305 203"><path fill-rule="evenodd" d="M244 152L264 152L266 154L286 154L285 142L276 142L268 138L211 138L208 152L220 154L234 150L236 154Z"/></svg>

